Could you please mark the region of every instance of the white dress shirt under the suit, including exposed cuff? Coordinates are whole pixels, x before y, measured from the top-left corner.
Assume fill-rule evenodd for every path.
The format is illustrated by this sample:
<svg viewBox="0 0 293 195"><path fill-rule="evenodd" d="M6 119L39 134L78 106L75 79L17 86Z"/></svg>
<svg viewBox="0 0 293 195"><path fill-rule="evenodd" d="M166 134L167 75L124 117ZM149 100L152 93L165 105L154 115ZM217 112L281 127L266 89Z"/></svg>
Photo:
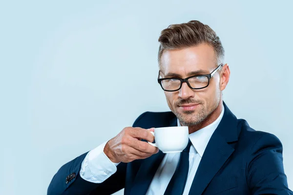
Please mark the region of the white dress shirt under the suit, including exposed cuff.
<svg viewBox="0 0 293 195"><path fill-rule="evenodd" d="M214 122L192 134L189 134L189 139L192 144L189 151L188 177L183 195L188 195L193 178L208 145L209 139L215 129L218 127L223 115L224 106L222 107L220 116ZM178 119L177 125L181 126ZM80 171L81 177L85 180L94 183L102 183L117 171L116 166L119 163L113 163L105 155L105 144L106 142L91 150L85 156ZM180 153L167 153L164 156L155 176L149 185L146 195L164 195L167 189L167 185L176 170L179 157Z"/></svg>

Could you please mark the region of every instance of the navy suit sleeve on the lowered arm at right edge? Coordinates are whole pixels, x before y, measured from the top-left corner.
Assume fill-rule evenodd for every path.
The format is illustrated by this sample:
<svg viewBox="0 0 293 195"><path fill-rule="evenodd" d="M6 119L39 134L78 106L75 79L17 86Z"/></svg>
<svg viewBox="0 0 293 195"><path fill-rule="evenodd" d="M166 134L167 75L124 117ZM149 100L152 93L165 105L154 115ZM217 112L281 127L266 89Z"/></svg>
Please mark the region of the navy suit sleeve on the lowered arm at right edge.
<svg viewBox="0 0 293 195"><path fill-rule="evenodd" d="M248 185L253 195L293 195L283 168L281 141L266 133L252 147Z"/></svg>

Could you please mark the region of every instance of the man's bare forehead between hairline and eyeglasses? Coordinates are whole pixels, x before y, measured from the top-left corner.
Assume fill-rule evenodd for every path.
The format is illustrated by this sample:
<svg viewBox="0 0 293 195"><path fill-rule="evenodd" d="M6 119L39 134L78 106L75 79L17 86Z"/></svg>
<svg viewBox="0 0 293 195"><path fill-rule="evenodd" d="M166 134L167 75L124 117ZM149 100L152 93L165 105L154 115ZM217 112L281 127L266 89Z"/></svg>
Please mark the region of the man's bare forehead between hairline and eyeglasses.
<svg viewBox="0 0 293 195"><path fill-rule="evenodd" d="M161 57L161 72L164 75L175 73L188 76L188 73L197 70L206 71L216 66L216 57L213 47L200 44L193 47L165 50Z"/></svg>

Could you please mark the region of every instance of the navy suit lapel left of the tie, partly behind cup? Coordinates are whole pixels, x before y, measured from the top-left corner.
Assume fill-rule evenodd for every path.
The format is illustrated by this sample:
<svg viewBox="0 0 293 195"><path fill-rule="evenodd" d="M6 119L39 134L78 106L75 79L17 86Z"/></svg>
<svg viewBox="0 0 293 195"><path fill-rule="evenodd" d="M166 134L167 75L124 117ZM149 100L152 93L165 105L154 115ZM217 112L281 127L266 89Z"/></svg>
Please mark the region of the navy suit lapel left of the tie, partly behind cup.
<svg viewBox="0 0 293 195"><path fill-rule="evenodd" d="M170 120L170 127L177 126L177 118L173 117ZM145 160L135 176L133 187L131 188L130 195L146 195L147 189L155 176L165 154L159 151L157 154L152 155Z"/></svg>

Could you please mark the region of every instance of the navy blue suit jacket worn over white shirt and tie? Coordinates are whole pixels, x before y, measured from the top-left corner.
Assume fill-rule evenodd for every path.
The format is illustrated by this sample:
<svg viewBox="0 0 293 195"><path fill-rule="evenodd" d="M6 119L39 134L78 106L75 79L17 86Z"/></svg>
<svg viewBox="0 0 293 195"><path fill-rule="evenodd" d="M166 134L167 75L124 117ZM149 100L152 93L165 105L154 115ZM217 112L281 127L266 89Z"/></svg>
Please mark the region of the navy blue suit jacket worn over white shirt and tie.
<svg viewBox="0 0 293 195"><path fill-rule="evenodd" d="M282 144L272 134L255 131L225 106L194 176L189 195L293 195L283 169ZM172 112L146 112L133 127L177 126ZM166 137L167 138L167 137ZM125 188L125 195L145 195L165 154L120 163L103 183L79 175L87 153L63 165L53 177L48 195L109 195Z"/></svg>

